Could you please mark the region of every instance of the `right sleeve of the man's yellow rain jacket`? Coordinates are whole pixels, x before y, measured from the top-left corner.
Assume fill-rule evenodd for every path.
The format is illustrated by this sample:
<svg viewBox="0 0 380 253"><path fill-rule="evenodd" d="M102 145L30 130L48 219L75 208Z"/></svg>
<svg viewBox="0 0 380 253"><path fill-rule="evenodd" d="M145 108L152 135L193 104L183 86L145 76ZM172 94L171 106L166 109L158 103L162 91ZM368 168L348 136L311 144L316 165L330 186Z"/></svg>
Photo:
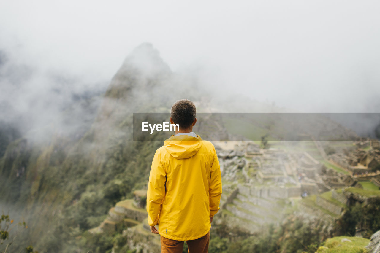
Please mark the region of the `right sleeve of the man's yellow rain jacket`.
<svg viewBox="0 0 380 253"><path fill-rule="evenodd" d="M222 175L218 156L214 147L214 158L211 165L211 176L209 184L210 216L214 216L220 209L220 196L222 195Z"/></svg>

